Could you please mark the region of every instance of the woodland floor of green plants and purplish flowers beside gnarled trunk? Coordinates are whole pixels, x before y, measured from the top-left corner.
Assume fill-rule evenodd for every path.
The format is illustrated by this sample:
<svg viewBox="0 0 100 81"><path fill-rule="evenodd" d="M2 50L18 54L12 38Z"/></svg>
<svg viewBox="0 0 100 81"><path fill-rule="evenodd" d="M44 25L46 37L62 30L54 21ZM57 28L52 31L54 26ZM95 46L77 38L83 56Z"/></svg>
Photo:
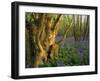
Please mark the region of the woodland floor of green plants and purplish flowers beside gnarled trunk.
<svg viewBox="0 0 100 81"><path fill-rule="evenodd" d="M62 39L58 36L56 41ZM67 37L59 45L58 57L49 60L48 63L39 65L39 67L57 67L57 66L81 66L89 65L89 41L75 41L74 37ZM27 68L32 68L27 64Z"/></svg>

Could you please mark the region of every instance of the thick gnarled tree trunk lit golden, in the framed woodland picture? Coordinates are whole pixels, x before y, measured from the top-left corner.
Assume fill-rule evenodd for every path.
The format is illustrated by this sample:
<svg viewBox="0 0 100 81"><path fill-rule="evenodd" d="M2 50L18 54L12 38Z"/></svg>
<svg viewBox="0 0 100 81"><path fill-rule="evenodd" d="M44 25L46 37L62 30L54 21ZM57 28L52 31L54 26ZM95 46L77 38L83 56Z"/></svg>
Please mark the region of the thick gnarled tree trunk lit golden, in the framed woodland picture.
<svg viewBox="0 0 100 81"><path fill-rule="evenodd" d="M59 46L55 42L55 37L58 34L59 27L57 27L57 24L60 18L61 15L58 15L56 20L52 22L52 17L39 14L39 27L35 30L36 33L33 38L35 48L37 48L33 67L47 63L49 59L53 59L58 55Z"/></svg>

